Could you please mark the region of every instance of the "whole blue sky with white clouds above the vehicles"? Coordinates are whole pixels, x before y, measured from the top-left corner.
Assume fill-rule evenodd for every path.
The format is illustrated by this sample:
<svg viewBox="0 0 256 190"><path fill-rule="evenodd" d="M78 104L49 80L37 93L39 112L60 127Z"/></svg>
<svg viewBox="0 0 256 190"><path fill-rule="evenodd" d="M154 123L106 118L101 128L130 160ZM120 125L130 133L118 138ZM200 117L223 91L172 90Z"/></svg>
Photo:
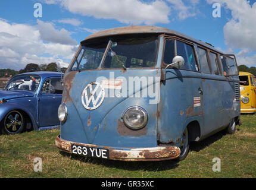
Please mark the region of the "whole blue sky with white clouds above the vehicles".
<svg viewBox="0 0 256 190"><path fill-rule="evenodd" d="M213 4L221 17L213 17ZM34 17L34 5L42 17ZM0 69L30 62L67 66L95 31L149 25L180 31L256 66L256 3L246 0L1 0Z"/></svg>

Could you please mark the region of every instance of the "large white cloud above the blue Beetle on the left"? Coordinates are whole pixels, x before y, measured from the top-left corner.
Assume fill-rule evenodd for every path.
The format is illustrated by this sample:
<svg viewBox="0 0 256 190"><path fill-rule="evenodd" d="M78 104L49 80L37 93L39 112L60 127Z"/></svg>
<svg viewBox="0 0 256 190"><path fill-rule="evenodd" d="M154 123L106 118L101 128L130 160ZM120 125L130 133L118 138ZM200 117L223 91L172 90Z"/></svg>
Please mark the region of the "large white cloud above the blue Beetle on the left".
<svg viewBox="0 0 256 190"><path fill-rule="evenodd" d="M67 30L56 30L51 24L42 21L38 21L38 23L41 26L39 24L29 26L28 24L9 23L7 20L0 19L0 69L20 70L29 63L57 62L60 66L68 65L77 45L63 44L68 42L67 39L57 43L58 38L55 38L57 34L62 35L60 39L68 37L69 33L65 33ZM43 42L46 40L43 36L46 33L42 28L46 26L55 32L49 34L51 36L48 39L49 43ZM73 39L70 40L70 38L68 40L72 42Z"/></svg>

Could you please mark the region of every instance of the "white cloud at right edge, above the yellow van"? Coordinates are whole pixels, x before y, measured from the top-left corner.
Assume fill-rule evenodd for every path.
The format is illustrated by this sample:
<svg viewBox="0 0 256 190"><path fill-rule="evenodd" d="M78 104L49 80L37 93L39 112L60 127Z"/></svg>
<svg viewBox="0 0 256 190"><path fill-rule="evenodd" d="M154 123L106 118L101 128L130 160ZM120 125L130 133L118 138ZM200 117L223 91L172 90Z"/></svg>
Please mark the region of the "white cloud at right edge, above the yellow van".
<svg viewBox="0 0 256 190"><path fill-rule="evenodd" d="M207 0L213 4L214 0ZM240 49L238 64L256 65L256 2L246 0L219 0L222 7L230 9L232 18L224 26L225 43L229 48Z"/></svg>

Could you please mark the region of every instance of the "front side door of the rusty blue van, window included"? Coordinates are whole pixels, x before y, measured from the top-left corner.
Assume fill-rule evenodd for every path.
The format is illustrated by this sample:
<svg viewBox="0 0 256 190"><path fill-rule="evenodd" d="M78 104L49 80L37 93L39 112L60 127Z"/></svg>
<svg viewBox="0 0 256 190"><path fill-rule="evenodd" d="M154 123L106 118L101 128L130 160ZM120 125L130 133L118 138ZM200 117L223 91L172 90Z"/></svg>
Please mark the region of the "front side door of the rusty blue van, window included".
<svg viewBox="0 0 256 190"><path fill-rule="evenodd" d="M185 65L166 69L158 105L158 144L178 143L187 123L203 114L202 80L195 47L182 39L166 39L163 66L171 64L177 55L185 59Z"/></svg>

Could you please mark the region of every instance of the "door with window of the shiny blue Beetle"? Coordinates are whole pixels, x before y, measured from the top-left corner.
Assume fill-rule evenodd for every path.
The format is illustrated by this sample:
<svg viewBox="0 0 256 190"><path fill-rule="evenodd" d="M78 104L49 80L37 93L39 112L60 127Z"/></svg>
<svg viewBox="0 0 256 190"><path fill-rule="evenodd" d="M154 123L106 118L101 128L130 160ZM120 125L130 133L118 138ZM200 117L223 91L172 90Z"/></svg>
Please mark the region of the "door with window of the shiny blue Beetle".
<svg viewBox="0 0 256 190"><path fill-rule="evenodd" d="M38 95L38 126L60 125L58 107L61 105L63 85L61 78L48 78Z"/></svg>

